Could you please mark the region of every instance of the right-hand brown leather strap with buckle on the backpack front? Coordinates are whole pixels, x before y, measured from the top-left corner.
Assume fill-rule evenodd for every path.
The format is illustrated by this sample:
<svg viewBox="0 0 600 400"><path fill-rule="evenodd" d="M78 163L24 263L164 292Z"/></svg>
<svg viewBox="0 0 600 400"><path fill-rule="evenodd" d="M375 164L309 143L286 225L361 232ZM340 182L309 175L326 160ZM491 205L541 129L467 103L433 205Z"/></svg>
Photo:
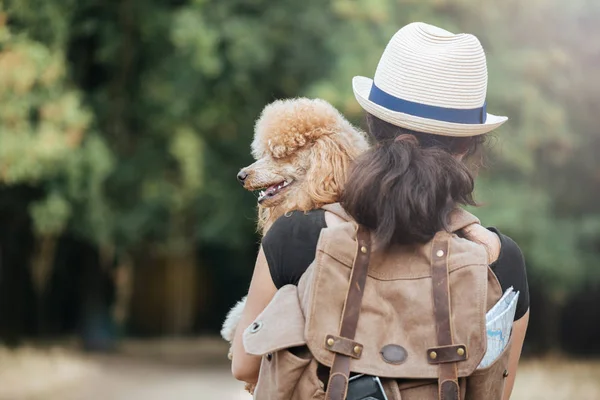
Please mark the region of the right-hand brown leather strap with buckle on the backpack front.
<svg viewBox="0 0 600 400"><path fill-rule="evenodd" d="M450 280L448 273L449 241L447 235L438 234L431 247L431 279L433 310L435 315L438 348L428 350L428 361L439 364L438 390L440 400L458 400L460 389L456 362L467 357L466 346L455 345L452 335L450 310Z"/></svg>

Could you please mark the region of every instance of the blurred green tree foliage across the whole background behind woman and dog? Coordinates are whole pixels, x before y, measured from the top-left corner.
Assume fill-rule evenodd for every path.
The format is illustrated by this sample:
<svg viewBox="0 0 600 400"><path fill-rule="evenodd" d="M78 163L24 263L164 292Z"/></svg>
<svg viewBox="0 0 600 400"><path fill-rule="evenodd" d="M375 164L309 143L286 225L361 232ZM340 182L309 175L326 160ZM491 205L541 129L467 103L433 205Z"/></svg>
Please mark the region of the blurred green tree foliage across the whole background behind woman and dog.
<svg viewBox="0 0 600 400"><path fill-rule="evenodd" d="M2 3L0 3L2 4ZM476 34L490 141L477 213L560 300L598 278L600 3L595 0L9 0L0 8L0 180L44 196L37 232L124 252L255 245L235 181L270 101L322 97L354 121L351 78L422 20ZM224 266L249 270L253 260Z"/></svg>

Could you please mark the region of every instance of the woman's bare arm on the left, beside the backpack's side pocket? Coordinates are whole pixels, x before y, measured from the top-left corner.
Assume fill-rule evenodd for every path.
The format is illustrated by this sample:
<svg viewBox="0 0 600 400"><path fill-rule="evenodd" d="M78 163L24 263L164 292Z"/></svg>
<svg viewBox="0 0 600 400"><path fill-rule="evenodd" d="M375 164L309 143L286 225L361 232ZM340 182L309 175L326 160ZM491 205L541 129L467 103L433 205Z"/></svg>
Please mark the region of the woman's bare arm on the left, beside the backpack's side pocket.
<svg viewBox="0 0 600 400"><path fill-rule="evenodd" d="M233 338L231 372L240 381L247 383L256 383L258 381L260 357L246 354L242 336L244 330L269 304L273 296L275 296L275 292L277 292L277 288L271 278L269 265L261 247L256 259L252 281L250 282L250 290L248 291L244 313Z"/></svg>

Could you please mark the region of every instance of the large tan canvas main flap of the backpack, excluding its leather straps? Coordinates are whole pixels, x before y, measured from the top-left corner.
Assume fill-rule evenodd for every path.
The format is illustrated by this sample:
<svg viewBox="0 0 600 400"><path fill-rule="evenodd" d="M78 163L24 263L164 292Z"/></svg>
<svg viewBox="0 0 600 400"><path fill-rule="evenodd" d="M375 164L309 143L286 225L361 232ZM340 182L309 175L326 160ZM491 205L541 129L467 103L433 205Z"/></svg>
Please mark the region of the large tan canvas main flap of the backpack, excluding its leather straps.
<svg viewBox="0 0 600 400"><path fill-rule="evenodd" d="M301 296L308 347L326 366L332 365L334 355L327 348L327 338L339 332L357 248L355 233L345 225L350 224L321 231L307 284L310 290L308 296ZM475 370L487 344L487 253L481 245L457 235L446 235L453 346L441 348L438 343L432 295L432 243L379 254L375 251L353 339L361 345L360 358L350 361L353 372L432 379L438 378L439 362L456 362L459 377L469 376ZM433 361L432 351L436 351ZM444 356L446 353L449 357Z"/></svg>

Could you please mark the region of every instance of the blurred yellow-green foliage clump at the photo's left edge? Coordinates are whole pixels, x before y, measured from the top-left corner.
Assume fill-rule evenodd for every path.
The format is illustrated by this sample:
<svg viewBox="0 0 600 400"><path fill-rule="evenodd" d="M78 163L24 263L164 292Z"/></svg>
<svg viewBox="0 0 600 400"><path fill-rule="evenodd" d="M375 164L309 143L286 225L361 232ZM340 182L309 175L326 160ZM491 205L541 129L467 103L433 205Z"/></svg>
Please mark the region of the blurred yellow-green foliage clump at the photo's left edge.
<svg viewBox="0 0 600 400"><path fill-rule="evenodd" d="M38 235L58 235L73 221L82 235L103 242L110 151L67 78L64 51L12 32L6 20L2 12L0 181L43 189L29 207Z"/></svg>

